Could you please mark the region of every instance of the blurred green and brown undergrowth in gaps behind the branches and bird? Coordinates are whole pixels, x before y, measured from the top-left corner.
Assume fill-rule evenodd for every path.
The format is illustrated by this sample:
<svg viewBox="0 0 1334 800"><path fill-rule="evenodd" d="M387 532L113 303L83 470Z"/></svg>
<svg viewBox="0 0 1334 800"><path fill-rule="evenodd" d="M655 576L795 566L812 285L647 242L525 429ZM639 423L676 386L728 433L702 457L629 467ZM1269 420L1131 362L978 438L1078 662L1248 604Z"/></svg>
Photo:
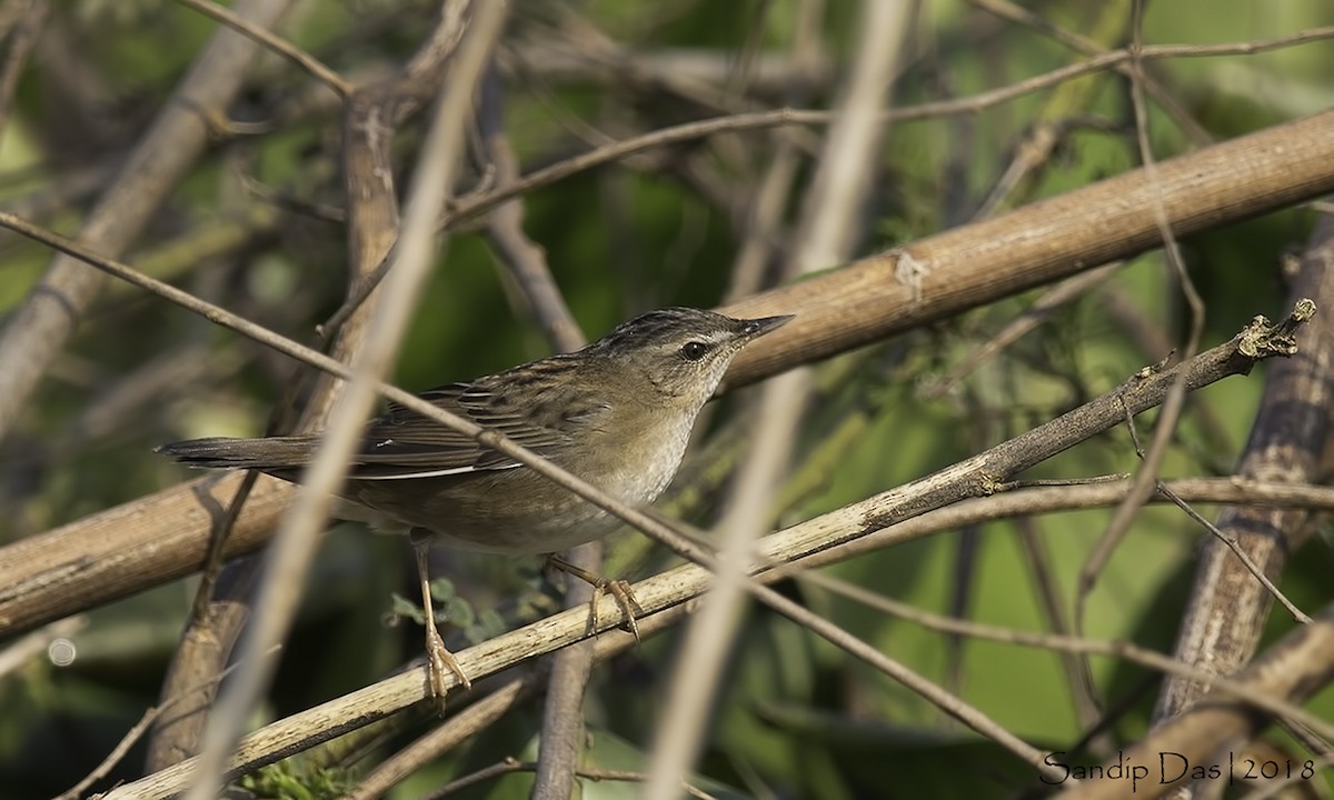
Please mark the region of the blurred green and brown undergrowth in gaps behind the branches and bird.
<svg viewBox="0 0 1334 800"><path fill-rule="evenodd" d="M16 3L0 15L20 13ZM49 3L17 76L0 139L0 209L57 232L77 231L108 176L197 57L216 23L175 3ZM915 7L888 103L964 99L1086 56L994 3ZM1102 48L1130 39L1129 3L1026 3L1037 23ZM406 60L435 24L420 0L296 3L279 32L350 80ZM858 4L846 0L620 0L515 3L500 44L504 127L530 173L611 140L742 111L828 108L844 85ZM1334 25L1334 7L1301 0L1149 4L1146 44L1222 44ZM12 41L12 39L11 39ZM1158 159L1230 139L1331 103L1327 40L1253 55L1155 60L1173 100L1150 103ZM1075 91L1078 87L1078 91ZM422 115L395 144L407 169ZM347 292L342 223L340 111L332 93L272 55L249 71L229 125L124 260L299 341ZM1050 128L1043 127L1050 125ZM1015 172L1037 131L1054 135L1039 163ZM586 336L655 307L719 305L778 277L823 128L723 133L576 172L523 196L526 231L544 251ZM760 185L778 153L795 171L759 267L739 269ZM874 172L859 253L872 253L1113 176L1139 164L1127 80L1103 71L975 113L895 123ZM466 169L455 192L486 185ZM1286 313L1285 257L1314 215L1294 208L1193 236L1183 255L1207 307L1203 345L1254 315ZM0 233L0 315L15 309L51 253ZM830 264L831 268L836 267ZM451 231L394 373L426 389L550 352L479 224ZM890 489L1015 436L1099 393L1179 347L1181 291L1161 253L1110 272L1042 325L962 377L954 371L1041 296L971 311L816 367L816 397L774 525ZM791 309L800 312L800 309ZM51 364L20 424L0 441L0 545L131 501L195 475L155 456L160 443L260 435L284 403L292 361L124 284L112 284ZM1166 476L1227 475L1246 441L1263 368L1193 396ZM708 527L739 448L752 389L716 403L686 468L659 508ZM1145 421L1145 429L1149 423ZM762 435L763 432L760 432ZM1143 435L1143 429L1141 431ZM1123 428L1026 477L1134 471ZM1206 516L1213 512L1205 509ZM915 608L1018 629L1069 624L1078 569L1110 519L1089 511L987 524L862 556L824 571ZM1175 509L1142 512L1089 600L1085 632L1170 651L1202 529ZM639 579L672 563L634 532L608 543L607 573ZM443 549L443 548L438 548ZM540 565L438 552L452 576L455 641L480 640L559 605ZM1281 588L1307 611L1329 600L1334 555L1314 537ZM41 651L0 675L0 796L48 797L88 773L157 703L163 671L187 619L195 579L96 608L68 651ZM959 640L854 603L827 587L779 588L982 708L1035 747L1071 749L1089 728L1061 656ZM395 616L412 597L406 543L339 524L325 536L260 724L367 685L420 652L420 628ZM1290 619L1273 615L1277 637ZM396 623L396 624L395 624ZM595 669L586 764L643 769L679 632ZM1269 640L1267 639L1267 640ZM1266 640L1266 641L1267 641ZM15 639L0 641L0 649ZM1263 643L1262 643L1263 647ZM57 652L59 651L59 652ZM64 653L64 655L63 655ZM59 657L57 657L59 656ZM68 663L65 663L68 661ZM1093 659L1114 752L1146 731L1155 676ZM1000 747L983 741L903 687L763 608L751 608L699 763L715 796L1014 797L1050 791ZM466 700L464 700L466 703ZM1313 705L1334 715L1334 692ZM512 756L531 759L540 704L402 784L422 796L451 776ZM427 720L406 715L356 756L293 759L251 779L260 796L336 793L364 764ZM1282 733L1266 741L1305 759ZM351 745L350 745L351 747ZM323 752L323 751L321 751ZM378 756L379 755L379 756ZM1275 757L1279 757L1275 756ZM100 788L136 777L140 748ZM483 781L466 797L526 797L523 773ZM296 788L300 787L300 788ZM1307 788L1329 797L1327 779ZM634 796L634 784L586 783L586 796Z"/></svg>

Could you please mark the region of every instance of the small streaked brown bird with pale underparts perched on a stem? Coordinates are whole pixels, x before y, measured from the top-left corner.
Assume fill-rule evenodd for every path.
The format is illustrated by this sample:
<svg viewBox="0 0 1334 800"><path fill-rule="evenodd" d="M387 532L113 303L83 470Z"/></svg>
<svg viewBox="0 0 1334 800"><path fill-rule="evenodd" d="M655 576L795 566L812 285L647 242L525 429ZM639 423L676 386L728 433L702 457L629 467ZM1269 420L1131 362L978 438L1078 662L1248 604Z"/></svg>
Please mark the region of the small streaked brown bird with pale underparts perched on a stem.
<svg viewBox="0 0 1334 800"><path fill-rule="evenodd" d="M695 419L732 357L791 319L663 308L580 351L420 396L631 505L647 505L676 475ZM193 439L157 449L192 467L259 469L295 481L319 441L319 433ZM440 697L446 668L462 684L470 680L444 648L431 612L426 556L432 541L494 553L554 553L619 524L520 463L395 404L367 425L340 495L351 503L338 516L412 536L431 689Z"/></svg>

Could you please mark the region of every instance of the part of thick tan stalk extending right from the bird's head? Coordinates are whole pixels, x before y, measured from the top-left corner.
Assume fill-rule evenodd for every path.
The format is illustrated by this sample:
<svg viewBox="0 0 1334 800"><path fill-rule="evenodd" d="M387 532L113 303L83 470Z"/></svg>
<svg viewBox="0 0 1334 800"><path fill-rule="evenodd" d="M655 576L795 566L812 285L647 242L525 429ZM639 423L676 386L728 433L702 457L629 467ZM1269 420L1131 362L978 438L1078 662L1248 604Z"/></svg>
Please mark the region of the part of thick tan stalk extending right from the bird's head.
<svg viewBox="0 0 1334 800"><path fill-rule="evenodd" d="M1322 112L1161 161L1153 181L1137 169L938 233L728 307L742 316L798 312L736 360L730 385L1157 248L1158 201L1181 237L1331 189L1334 112ZM918 303L899 279L908 261L923 268Z"/></svg>

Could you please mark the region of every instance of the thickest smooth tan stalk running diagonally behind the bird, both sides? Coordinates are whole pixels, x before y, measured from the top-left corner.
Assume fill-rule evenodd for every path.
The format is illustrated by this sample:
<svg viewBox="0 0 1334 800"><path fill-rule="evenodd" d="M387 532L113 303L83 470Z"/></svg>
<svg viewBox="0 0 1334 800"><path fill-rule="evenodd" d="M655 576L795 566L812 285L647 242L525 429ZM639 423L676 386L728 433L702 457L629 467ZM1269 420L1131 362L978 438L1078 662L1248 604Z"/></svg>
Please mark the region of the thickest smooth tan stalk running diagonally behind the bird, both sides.
<svg viewBox="0 0 1334 800"><path fill-rule="evenodd" d="M1334 112L1163 161L1157 171L1154 185L1131 172L728 307L724 311L736 315L798 312L783 331L742 353L731 385L1143 252L1157 244L1154 191L1162 193L1178 235L1329 192ZM895 277L906 253L930 267L916 303ZM205 480L215 479L164 489L0 549L0 636L197 569L209 516L200 512L195 493L209 485ZM273 484L264 480L257 491L269 500L277 493L289 497ZM281 505L267 501L247 505L233 532L244 547L229 543L228 552L263 544L280 512ZM119 571L100 561L108 556ZM23 591L13 591L20 585Z"/></svg>

